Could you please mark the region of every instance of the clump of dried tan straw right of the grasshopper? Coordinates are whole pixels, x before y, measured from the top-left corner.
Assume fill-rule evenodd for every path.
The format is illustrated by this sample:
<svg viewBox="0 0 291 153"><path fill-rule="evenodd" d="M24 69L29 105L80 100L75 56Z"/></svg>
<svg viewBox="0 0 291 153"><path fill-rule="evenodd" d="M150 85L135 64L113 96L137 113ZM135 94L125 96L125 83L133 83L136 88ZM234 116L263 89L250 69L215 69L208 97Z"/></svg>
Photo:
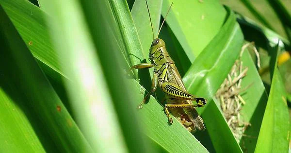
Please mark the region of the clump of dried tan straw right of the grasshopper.
<svg viewBox="0 0 291 153"><path fill-rule="evenodd" d="M245 101L242 99L240 94L250 86L249 85L244 89L241 88L242 79L248 70L247 67L243 68L241 57L243 51L248 45L250 45L250 43L242 46L239 59L236 60L224 83L220 86L220 89L218 89L216 93L216 98L220 100L220 106L226 118L227 124L238 142L243 136L246 128L250 126L250 123L244 122L241 119L240 113L242 105L245 104Z"/></svg>

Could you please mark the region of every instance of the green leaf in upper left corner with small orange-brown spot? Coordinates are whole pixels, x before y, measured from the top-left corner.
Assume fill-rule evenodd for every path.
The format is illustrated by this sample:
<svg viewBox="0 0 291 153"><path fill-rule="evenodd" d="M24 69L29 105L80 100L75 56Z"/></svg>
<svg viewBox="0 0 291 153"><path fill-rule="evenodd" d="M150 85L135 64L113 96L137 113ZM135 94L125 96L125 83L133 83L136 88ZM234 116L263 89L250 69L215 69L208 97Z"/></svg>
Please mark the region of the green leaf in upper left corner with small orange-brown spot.
<svg viewBox="0 0 291 153"><path fill-rule="evenodd" d="M63 80L68 78L60 69L45 22L47 14L27 0L0 0L0 3L65 107L74 116L63 85Z"/></svg>

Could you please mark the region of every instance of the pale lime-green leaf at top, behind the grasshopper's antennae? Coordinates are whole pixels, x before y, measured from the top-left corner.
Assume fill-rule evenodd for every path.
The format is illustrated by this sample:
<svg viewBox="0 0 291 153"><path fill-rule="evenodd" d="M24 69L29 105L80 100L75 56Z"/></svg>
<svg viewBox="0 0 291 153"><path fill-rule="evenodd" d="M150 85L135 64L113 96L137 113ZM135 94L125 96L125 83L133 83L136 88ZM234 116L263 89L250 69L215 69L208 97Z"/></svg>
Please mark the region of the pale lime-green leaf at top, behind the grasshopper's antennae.
<svg viewBox="0 0 291 153"><path fill-rule="evenodd" d="M226 11L219 1L163 0L162 15L193 63L194 58L208 45L224 23Z"/></svg>

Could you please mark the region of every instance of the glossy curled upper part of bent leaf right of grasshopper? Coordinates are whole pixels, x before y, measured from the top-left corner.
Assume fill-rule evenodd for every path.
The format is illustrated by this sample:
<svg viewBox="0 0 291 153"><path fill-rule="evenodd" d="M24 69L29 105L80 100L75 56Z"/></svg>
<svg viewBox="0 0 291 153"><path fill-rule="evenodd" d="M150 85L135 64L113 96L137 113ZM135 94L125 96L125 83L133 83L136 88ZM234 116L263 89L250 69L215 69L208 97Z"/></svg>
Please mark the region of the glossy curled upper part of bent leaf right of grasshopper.
<svg viewBox="0 0 291 153"><path fill-rule="evenodd" d="M183 78L188 90L194 91L191 92L194 95L212 99L241 50L242 31L234 13L228 8L227 11L226 23Z"/></svg>

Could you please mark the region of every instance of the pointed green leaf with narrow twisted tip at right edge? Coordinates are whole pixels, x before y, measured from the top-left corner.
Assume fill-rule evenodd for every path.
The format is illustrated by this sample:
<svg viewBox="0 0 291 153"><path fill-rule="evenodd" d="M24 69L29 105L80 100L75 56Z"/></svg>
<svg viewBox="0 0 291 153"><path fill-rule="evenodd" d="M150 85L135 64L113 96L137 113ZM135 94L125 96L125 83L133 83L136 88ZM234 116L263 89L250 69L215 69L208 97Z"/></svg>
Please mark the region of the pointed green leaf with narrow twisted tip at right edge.
<svg viewBox="0 0 291 153"><path fill-rule="evenodd" d="M271 89L264 112L255 153L288 152L290 125L286 92L277 68L278 45L271 56Z"/></svg>

